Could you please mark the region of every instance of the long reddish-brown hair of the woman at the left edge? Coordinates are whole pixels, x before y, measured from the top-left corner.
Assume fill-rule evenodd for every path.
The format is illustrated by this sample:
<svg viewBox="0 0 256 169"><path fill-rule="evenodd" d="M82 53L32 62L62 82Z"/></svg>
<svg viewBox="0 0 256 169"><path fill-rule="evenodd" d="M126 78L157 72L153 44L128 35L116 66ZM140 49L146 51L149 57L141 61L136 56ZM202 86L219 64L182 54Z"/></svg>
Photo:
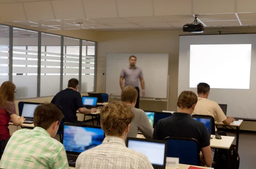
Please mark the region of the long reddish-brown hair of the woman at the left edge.
<svg viewBox="0 0 256 169"><path fill-rule="evenodd" d="M14 102L16 86L11 81L3 82L0 87L0 105L5 104L6 101Z"/></svg>

